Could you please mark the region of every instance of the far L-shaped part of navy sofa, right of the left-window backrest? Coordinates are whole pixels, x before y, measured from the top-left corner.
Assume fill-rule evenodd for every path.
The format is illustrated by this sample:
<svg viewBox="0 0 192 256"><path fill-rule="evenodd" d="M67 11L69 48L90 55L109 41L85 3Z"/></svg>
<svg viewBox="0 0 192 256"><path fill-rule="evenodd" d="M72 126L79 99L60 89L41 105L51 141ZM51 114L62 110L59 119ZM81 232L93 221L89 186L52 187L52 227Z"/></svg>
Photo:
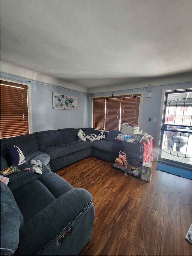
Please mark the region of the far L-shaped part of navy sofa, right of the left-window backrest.
<svg viewBox="0 0 192 256"><path fill-rule="evenodd" d="M86 135L101 131L92 128L81 128ZM50 155L50 168L52 172L59 170L65 166L73 164L90 155L101 158L105 161L114 161L113 140L121 131L110 131L106 140L86 141L79 140L75 128L64 128L51 131L35 132L38 148L41 152Z"/></svg>

